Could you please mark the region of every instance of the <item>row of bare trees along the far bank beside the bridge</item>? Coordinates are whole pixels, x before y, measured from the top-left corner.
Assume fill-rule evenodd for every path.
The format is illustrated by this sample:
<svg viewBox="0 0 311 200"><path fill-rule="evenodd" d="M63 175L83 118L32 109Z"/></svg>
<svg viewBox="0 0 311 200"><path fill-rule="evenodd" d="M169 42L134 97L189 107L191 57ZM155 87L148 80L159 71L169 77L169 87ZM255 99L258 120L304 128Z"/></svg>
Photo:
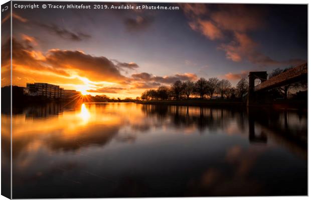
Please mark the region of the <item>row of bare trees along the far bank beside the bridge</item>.
<svg viewBox="0 0 311 200"><path fill-rule="evenodd" d="M171 86L161 85L158 89L147 89L142 92L141 100L167 100L167 99L190 99L199 97L210 98L216 94L221 98L242 98L248 91L248 81L242 78L235 87L229 80L211 77L201 77L197 81L175 81Z"/></svg>

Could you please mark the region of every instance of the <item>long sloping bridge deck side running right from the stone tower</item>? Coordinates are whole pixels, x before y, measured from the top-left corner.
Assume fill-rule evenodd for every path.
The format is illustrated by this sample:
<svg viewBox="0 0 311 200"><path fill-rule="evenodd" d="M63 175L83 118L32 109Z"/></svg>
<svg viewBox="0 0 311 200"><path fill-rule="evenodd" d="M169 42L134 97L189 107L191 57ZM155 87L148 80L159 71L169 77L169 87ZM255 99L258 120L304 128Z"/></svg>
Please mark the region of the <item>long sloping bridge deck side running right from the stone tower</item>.
<svg viewBox="0 0 311 200"><path fill-rule="evenodd" d="M295 78L302 74L307 74L307 70L308 70L307 63L300 64L296 67L288 69L287 71L282 72L276 76L273 76L269 78L268 80L256 85L254 87L254 91L264 89L267 87L271 87L273 85L279 84L281 82L285 82L286 80Z"/></svg>

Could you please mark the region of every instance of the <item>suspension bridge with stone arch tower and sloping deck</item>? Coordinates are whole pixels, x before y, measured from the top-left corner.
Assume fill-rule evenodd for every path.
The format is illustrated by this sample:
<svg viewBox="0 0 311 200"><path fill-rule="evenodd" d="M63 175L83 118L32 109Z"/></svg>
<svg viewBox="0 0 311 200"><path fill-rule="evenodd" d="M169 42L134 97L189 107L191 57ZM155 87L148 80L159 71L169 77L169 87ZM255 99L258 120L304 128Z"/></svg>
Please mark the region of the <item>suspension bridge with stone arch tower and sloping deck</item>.
<svg viewBox="0 0 311 200"><path fill-rule="evenodd" d="M293 68L290 68L287 71L282 72L269 79L267 79L266 71L252 71L249 72L248 77L249 88L247 105L254 105L258 103L258 97L262 97L262 95L256 95L259 92L307 79L307 63L303 63ZM260 79L261 83L255 86L255 79L257 78Z"/></svg>

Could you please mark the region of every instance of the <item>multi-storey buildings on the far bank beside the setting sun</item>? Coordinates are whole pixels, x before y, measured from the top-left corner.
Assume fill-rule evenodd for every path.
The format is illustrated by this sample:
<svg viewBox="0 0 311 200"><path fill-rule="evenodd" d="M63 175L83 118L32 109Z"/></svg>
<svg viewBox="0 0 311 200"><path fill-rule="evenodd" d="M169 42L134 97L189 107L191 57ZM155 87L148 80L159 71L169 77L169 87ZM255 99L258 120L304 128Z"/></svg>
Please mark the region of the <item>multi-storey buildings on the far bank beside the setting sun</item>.
<svg viewBox="0 0 311 200"><path fill-rule="evenodd" d="M45 82L27 83L27 87L24 88L24 94L30 96L44 96L47 98L74 98L81 95L81 92L64 89L59 85L49 84Z"/></svg>

